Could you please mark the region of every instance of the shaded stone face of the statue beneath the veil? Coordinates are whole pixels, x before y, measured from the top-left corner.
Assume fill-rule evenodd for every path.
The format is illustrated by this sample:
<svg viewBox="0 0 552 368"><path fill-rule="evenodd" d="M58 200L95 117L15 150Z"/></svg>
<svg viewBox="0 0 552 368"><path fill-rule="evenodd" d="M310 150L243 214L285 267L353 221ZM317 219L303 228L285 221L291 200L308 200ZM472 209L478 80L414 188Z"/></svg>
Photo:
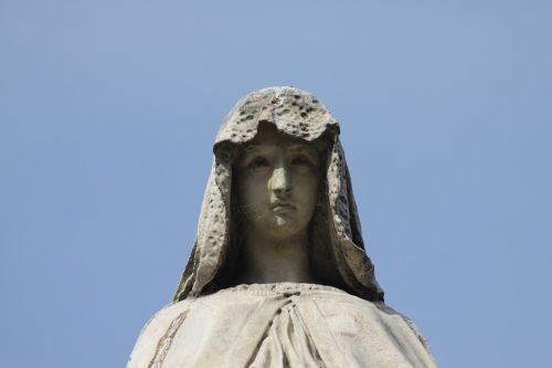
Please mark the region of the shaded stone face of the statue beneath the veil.
<svg viewBox="0 0 552 368"><path fill-rule="evenodd" d="M306 230L318 199L319 165L311 143L259 126L235 164L237 201L246 225L282 240Z"/></svg>

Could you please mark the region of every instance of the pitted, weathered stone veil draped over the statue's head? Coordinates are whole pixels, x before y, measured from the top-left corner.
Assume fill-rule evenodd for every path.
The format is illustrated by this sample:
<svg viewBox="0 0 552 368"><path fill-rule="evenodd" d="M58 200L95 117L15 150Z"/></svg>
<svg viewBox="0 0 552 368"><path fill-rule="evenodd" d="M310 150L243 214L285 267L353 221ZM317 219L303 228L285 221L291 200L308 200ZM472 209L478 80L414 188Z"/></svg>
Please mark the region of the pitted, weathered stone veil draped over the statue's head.
<svg viewBox="0 0 552 368"><path fill-rule="evenodd" d="M236 252L231 234L232 161L236 148L255 137L259 123L272 124L279 132L307 141L322 137L327 140L326 191L310 231L312 246L316 246L311 252L312 269L323 273L325 283L329 285L369 301L383 301L383 291L364 250L349 170L339 141L339 125L317 97L294 87L253 92L226 116L213 147L213 167L194 249L173 299L223 288L217 285L217 276L221 270L227 269L232 252Z"/></svg>

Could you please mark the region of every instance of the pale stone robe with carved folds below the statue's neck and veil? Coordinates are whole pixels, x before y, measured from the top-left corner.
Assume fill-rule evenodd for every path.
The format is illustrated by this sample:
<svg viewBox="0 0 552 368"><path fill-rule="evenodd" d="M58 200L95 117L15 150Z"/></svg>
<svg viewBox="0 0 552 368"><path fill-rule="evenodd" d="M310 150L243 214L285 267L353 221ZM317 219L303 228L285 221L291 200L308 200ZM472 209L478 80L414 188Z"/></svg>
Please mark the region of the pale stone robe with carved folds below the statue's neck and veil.
<svg viewBox="0 0 552 368"><path fill-rule="evenodd" d="M434 368L401 314L314 284L255 284L173 303L142 330L127 368Z"/></svg>

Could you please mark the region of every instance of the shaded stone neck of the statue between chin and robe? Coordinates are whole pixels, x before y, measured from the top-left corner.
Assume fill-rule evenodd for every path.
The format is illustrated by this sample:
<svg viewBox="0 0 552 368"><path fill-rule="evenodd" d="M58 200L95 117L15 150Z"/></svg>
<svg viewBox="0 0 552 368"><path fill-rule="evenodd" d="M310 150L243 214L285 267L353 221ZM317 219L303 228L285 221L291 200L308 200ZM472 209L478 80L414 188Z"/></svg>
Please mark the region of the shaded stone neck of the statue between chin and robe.
<svg viewBox="0 0 552 368"><path fill-rule="evenodd" d="M314 282L306 231L286 239L267 239L254 230L250 231L242 256L242 283Z"/></svg>

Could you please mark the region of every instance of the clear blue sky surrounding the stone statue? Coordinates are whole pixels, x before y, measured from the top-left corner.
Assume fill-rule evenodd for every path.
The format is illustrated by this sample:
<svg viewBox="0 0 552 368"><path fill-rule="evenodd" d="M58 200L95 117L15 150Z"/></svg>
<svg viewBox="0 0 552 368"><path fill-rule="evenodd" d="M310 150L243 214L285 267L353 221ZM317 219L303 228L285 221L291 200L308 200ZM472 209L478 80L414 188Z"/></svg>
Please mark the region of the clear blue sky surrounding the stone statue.
<svg viewBox="0 0 552 368"><path fill-rule="evenodd" d="M546 0L0 0L2 366L124 367L223 117L294 85L439 367L550 367L551 40Z"/></svg>

